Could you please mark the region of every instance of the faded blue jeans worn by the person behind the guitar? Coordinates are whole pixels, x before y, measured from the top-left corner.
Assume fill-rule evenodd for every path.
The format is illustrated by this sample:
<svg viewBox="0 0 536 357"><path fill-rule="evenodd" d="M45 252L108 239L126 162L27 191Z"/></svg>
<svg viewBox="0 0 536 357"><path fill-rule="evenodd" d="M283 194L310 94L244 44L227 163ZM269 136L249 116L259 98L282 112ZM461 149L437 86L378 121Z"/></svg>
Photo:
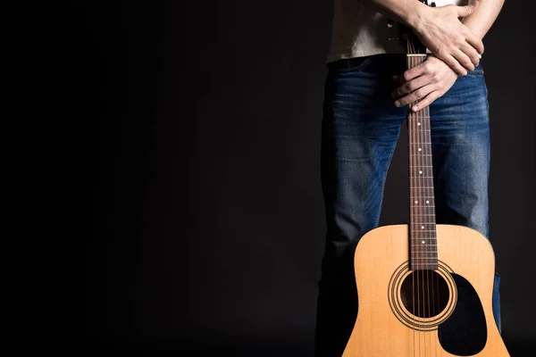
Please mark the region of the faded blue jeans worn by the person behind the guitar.
<svg viewBox="0 0 536 357"><path fill-rule="evenodd" d="M316 316L316 356L342 355L357 315L353 254L378 227L389 162L406 120L391 77L403 54L328 63L322 118L322 194L327 234ZM459 77L430 106L438 224L474 228L488 237L490 127L482 65ZM395 203L389 203L395 204ZM399 202L402 207L406 202ZM500 327L499 277L493 312ZM500 329L500 328L499 328Z"/></svg>

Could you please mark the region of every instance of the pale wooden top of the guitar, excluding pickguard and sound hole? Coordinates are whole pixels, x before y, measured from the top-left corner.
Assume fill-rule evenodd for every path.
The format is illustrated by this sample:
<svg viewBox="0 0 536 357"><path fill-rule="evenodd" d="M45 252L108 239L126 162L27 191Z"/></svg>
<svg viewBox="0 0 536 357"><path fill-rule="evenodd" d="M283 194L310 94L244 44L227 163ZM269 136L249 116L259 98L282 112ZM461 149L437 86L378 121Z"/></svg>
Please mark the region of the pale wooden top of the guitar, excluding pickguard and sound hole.
<svg viewBox="0 0 536 357"><path fill-rule="evenodd" d="M473 355L509 356L493 318L491 298L495 257L490 242L481 233L461 226L437 225L437 236L438 259L445 267L443 270L465 278L482 304L487 337L483 349ZM419 329L408 326L412 320L404 322L408 311L404 311L401 303L397 304L400 294L396 291L394 277L397 271L398 276L404 275L407 257L407 225L375 228L359 241L355 253L359 309L343 357L457 355L443 349L433 324ZM445 273L445 276L450 274ZM450 295L453 301L449 306L454 306L456 291L451 291ZM418 318L415 320L419 322ZM444 320L448 320L447 312ZM422 322L425 326L425 319Z"/></svg>

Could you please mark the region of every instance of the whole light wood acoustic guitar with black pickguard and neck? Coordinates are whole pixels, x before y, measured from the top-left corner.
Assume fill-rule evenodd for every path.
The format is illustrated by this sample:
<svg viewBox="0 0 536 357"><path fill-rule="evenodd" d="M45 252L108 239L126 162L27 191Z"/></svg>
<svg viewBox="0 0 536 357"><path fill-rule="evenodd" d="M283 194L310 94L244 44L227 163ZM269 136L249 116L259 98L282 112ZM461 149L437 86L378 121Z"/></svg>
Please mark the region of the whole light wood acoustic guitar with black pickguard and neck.
<svg viewBox="0 0 536 357"><path fill-rule="evenodd" d="M423 62L415 35L402 38L407 68ZM375 228L357 244L359 309L343 357L509 356L491 307L490 241L436 225L429 109L410 112L407 129L410 224Z"/></svg>

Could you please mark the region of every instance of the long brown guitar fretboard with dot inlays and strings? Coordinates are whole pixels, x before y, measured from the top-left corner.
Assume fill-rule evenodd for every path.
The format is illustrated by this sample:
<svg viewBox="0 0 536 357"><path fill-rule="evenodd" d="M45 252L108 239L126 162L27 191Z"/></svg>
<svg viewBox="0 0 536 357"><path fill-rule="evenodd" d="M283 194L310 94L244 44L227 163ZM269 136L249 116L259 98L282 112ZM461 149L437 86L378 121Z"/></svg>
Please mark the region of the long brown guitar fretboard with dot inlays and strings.
<svg viewBox="0 0 536 357"><path fill-rule="evenodd" d="M408 55L410 69L426 59L426 54ZM410 104L410 108L417 102ZM409 142L409 253L411 270L437 270L433 172L431 165L430 111L410 110L407 118Z"/></svg>

